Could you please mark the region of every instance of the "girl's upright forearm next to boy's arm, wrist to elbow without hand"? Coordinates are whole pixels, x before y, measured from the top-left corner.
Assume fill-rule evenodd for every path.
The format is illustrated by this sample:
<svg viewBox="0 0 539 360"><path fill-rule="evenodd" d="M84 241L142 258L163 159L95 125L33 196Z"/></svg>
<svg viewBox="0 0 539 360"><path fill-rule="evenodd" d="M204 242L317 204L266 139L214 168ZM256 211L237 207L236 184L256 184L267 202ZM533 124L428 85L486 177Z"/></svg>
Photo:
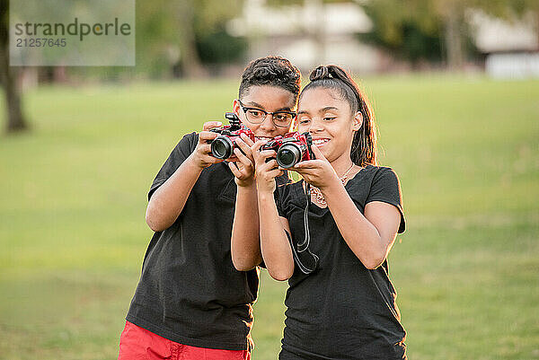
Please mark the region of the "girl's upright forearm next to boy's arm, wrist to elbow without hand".
<svg viewBox="0 0 539 360"><path fill-rule="evenodd" d="M283 281L294 273L294 259L285 226L281 223L273 194L258 194L261 253L270 276Z"/></svg>

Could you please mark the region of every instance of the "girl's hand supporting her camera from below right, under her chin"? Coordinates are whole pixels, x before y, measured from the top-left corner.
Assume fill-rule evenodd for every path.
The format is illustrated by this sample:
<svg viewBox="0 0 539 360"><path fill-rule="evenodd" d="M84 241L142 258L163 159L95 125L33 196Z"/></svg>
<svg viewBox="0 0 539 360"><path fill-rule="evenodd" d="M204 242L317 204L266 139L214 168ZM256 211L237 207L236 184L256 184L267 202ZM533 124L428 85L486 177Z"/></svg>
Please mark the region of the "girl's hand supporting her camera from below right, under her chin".
<svg viewBox="0 0 539 360"><path fill-rule="evenodd" d="M312 145L311 149L316 159L298 162L290 170L297 171L304 178L305 182L321 190L332 184L340 183L337 173L331 166L331 163L323 156L318 146Z"/></svg>

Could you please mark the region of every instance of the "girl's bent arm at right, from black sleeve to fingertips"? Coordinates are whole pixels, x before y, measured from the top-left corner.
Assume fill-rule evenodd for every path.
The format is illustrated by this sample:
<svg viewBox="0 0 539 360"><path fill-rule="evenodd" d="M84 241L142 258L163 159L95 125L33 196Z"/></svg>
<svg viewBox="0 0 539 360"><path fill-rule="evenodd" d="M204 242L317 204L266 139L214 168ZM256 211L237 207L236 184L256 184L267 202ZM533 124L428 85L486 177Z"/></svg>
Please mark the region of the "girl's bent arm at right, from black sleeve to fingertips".
<svg viewBox="0 0 539 360"><path fill-rule="evenodd" d="M297 171L305 181L318 187L344 241L366 268L378 268L387 257L399 229L401 214L390 204L373 201L365 206L365 215L349 197L335 171L320 150L313 146L314 161L299 162Z"/></svg>

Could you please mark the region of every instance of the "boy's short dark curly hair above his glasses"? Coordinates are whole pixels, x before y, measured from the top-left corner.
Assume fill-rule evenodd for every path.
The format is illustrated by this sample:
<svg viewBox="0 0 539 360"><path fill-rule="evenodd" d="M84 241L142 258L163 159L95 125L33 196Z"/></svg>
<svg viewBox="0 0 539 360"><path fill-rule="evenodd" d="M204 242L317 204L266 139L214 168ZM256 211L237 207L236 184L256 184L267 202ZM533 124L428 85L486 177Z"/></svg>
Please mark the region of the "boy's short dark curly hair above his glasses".
<svg viewBox="0 0 539 360"><path fill-rule="evenodd" d="M301 73L284 57L261 57L253 60L242 75L239 97L243 98L249 88L255 85L278 86L292 92L297 100L301 83Z"/></svg>

